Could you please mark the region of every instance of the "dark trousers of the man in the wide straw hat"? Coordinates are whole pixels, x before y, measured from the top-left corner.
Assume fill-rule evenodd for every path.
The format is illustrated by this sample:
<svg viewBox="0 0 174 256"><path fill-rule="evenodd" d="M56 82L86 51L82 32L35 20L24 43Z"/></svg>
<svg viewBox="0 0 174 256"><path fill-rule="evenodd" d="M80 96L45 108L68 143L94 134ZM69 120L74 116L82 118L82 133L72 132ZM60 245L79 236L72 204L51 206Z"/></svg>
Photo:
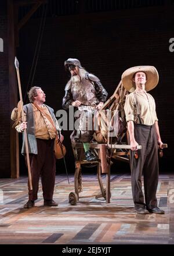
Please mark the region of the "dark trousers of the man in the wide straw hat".
<svg viewBox="0 0 174 256"><path fill-rule="evenodd" d="M158 143L155 125L135 125L135 140L142 145L138 150L138 158L134 157L135 152L131 150L131 179L132 194L135 208L144 207L144 195L142 191L142 173L144 173L144 193L146 207L152 209L157 207L157 186L158 186Z"/></svg>

